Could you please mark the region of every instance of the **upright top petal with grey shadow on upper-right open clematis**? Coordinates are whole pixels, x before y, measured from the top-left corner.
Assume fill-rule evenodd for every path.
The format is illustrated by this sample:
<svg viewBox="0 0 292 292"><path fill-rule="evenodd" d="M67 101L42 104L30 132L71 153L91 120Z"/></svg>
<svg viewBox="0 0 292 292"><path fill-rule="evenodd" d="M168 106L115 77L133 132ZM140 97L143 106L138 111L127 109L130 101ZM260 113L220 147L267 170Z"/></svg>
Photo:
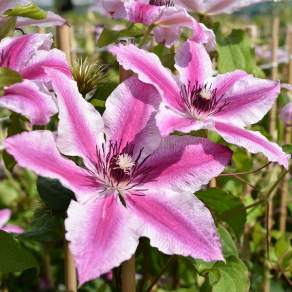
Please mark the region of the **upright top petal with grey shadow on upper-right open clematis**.
<svg viewBox="0 0 292 292"><path fill-rule="evenodd" d="M190 40L185 41L175 54L174 60L174 66L186 86L189 81L191 87L196 85L196 81L203 84L213 75L212 61L202 44Z"/></svg>

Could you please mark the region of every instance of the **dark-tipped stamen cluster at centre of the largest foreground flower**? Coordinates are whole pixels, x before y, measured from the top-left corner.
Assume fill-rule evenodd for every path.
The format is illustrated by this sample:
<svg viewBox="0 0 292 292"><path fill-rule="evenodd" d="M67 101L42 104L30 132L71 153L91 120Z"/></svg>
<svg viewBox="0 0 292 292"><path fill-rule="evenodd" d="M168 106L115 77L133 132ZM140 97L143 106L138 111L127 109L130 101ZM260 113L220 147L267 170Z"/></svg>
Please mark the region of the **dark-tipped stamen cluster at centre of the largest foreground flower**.
<svg viewBox="0 0 292 292"><path fill-rule="evenodd" d="M146 156L139 162L143 149L141 148L135 161L132 162L133 151L135 145L127 145L121 149L122 140L118 144L108 141L109 145L102 145L102 149L97 149L96 146L96 159L88 157L91 164L94 166L93 170L88 169L90 180L97 181L105 186L105 190L114 189L120 195L131 190L129 193L136 196L144 196L140 194L141 191L147 189L139 189L138 185L147 183L147 176L155 167L147 166ZM107 149L107 150L106 150ZM85 167L83 165L83 167Z"/></svg>

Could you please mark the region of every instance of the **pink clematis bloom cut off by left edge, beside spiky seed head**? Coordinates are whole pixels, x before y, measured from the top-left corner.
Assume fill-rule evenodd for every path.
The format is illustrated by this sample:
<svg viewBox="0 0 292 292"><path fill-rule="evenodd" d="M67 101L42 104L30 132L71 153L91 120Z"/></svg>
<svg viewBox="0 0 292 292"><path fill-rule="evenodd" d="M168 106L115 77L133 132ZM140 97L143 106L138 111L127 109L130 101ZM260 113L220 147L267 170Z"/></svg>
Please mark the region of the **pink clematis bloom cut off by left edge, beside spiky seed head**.
<svg viewBox="0 0 292 292"><path fill-rule="evenodd" d="M51 78L43 66L57 68L72 79L66 55L52 49L52 34L5 37L0 42L0 66L17 71L23 82L4 88L0 107L27 115L31 125L46 125L57 113Z"/></svg>

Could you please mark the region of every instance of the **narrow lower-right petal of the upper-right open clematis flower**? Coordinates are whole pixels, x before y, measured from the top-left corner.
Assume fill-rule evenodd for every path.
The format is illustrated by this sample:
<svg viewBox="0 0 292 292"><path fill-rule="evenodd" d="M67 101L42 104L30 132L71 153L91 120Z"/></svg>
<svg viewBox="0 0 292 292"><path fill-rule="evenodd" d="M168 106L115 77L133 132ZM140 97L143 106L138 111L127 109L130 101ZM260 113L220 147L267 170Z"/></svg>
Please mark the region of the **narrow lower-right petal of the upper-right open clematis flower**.
<svg viewBox="0 0 292 292"><path fill-rule="evenodd" d="M213 130L219 133L226 142L244 147L251 153L262 152L269 161L277 162L288 169L291 155L283 152L276 143L268 141L259 131L249 131L243 127L239 128L217 121Z"/></svg>

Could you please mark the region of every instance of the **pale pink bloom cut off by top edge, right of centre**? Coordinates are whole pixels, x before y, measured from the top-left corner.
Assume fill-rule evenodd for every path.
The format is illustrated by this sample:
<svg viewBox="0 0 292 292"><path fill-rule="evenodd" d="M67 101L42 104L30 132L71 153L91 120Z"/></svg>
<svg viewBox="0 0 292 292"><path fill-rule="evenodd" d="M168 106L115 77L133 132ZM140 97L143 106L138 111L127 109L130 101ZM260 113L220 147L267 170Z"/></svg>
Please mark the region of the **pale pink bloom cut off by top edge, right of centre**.
<svg viewBox="0 0 292 292"><path fill-rule="evenodd" d="M231 14L242 8L272 0L176 0L187 11L198 15ZM277 2L279 0L274 0Z"/></svg>

